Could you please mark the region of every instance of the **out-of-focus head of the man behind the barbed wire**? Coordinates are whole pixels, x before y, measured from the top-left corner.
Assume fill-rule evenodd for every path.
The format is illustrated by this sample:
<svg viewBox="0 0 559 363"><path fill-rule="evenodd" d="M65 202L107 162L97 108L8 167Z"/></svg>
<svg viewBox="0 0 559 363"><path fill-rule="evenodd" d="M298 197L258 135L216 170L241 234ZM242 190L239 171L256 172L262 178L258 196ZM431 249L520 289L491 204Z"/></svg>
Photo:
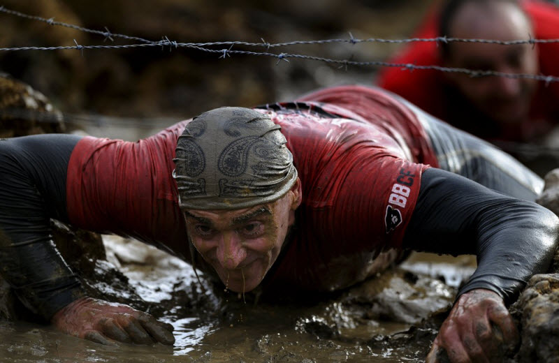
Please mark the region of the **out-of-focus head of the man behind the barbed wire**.
<svg viewBox="0 0 559 363"><path fill-rule="evenodd" d="M534 36L530 19L515 0L450 0L440 15L440 36L495 40ZM537 74L537 51L532 45L487 43L441 44L444 66L503 73ZM501 124L514 124L528 116L535 80L498 76L470 77L445 73L479 111Z"/></svg>

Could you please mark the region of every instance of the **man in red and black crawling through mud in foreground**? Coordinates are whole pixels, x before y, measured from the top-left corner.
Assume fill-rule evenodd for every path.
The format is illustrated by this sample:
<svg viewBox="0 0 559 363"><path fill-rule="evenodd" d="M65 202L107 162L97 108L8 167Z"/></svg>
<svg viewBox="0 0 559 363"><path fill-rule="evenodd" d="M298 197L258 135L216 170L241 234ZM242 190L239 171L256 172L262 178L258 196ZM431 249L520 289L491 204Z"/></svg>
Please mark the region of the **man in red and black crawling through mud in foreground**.
<svg viewBox="0 0 559 363"><path fill-rule="evenodd" d="M138 142L12 138L0 141L1 274L63 332L173 344L168 324L85 296L50 218L201 257L236 292L347 288L391 251L474 253L427 359L490 362L518 342L506 306L558 244L558 218L532 202L542 186L486 142L358 86L218 108Z"/></svg>

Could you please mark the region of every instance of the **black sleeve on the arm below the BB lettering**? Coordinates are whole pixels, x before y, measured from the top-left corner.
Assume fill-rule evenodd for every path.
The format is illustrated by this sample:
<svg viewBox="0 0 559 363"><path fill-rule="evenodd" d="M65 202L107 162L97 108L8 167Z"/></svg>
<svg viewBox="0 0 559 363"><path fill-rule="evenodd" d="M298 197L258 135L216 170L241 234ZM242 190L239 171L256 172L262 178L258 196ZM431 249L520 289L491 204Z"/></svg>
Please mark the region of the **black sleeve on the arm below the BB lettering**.
<svg viewBox="0 0 559 363"><path fill-rule="evenodd" d="M478 267L458 296L485 288L510 304L533 274L549 267L558 245L558 222L555 214L533 202L431 168L421 178L404 246L477 255Z"/></svg>

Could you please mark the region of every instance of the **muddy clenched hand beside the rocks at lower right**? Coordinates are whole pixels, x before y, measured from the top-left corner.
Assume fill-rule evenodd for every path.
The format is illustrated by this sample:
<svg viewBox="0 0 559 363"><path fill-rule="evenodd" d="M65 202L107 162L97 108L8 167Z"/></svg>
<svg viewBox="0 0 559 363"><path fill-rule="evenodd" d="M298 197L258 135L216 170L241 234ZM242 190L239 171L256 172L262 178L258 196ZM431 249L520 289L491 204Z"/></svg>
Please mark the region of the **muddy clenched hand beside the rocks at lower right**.
<svg viewBox="0 0 559 363"><path fill-rule="evenodd" d="M442 323L428 363L500 362L518 344L518 330L495 292L466 292Z"/></svg>

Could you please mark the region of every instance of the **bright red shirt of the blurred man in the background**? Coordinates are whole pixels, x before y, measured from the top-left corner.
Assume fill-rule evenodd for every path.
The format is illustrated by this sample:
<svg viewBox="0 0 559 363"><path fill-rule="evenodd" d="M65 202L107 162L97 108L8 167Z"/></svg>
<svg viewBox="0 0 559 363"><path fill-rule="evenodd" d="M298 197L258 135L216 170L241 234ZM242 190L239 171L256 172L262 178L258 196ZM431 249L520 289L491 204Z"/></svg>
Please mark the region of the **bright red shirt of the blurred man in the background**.
<svg viewBox="0 0 559 363"><path fill-rule="evenodd" d="M535 34L526 34L537 39L559 38L559 8L543 1L521 1L535 27ZM414 37L435 38L438 36L438 7L426 16ZM539 43L539 72L543 75L559 76L559 44ZM436 42L410 43L389 59L395 64L416 66L440 66L442 61ZM414 103L422 110L433 114L449 124L486 140L533 141L542 138L557 125L559 119L558 82L539 82L537 93L530 106L529 119L519 128L501 128L495 121L474 112L467 100L447 84L444 74L435 70L409 71L402 67L384 68L375 81L380 87L394 92Z"/></svg>

